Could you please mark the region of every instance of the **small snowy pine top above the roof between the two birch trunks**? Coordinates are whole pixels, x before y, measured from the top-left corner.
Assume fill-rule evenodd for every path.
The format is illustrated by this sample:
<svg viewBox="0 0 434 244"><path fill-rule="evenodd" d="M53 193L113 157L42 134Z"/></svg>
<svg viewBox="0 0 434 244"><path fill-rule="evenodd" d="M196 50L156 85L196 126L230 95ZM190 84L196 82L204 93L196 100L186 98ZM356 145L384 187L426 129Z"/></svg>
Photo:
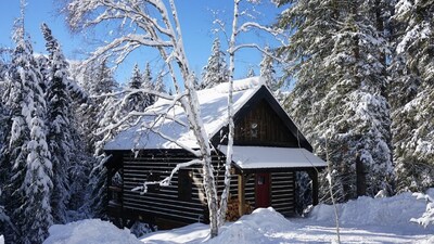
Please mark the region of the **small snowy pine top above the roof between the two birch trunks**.
<svg viewBox="0 0 434 244"><path fill-rule="evenodd" d="M208 63L203 67L201 89L212 88L218 84L228 81L228 66L225 61L225 52L221 51L220 40L214 39Z"/></svg>

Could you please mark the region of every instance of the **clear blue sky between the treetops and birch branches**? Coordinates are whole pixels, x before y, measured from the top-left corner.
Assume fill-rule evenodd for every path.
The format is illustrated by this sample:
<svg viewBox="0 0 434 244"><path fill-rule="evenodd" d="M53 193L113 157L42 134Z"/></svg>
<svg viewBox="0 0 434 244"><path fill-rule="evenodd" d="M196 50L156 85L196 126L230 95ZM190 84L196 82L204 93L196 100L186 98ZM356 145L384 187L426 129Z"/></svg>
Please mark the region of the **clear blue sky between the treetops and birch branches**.
<svg viewBox="0 0 434 244"><path fill-rule="evenodd" d="M53 0L27 0L25 12L25 28L30 35L34 43L34 50L37 53L44 53L44 41L39 30L41 23L47 23L52 29L54 37L61 42L66 57L72 60L84 59L84 53L92 51L84 36L71 34L64 21L65 16L59 14L59 7ZM177 1L178 14L181 22L183 34L183 43L190 62L190 67L201 74L202 67L210 54L213 40L216 34L212 30L216 28L213 25L217 11L217 17L225 21L228 26L232 23L232 1L230 0L181 0ZM282 10L273 4L264 1L263 4L255 7L258 12L252 12L259 23L271 24L276 16ZM0 47L14 47L11 40L11 33L14 20L20 15L20 1L0 1ZM221 34L221 33L220 33ZM220 35L221 38L222 35ZM103 39L103 37L95 37ZM275 43L267 35L253 33L240 36L240 42L258 42L260 44ZM222 46L225 40L221 40ZM225 47L224 47L225 48ZM143 52L143 51L142 51ZM116 78L123 82L128 79L132 70L132 65L138 63L141 68L145 62L157 60L157 54L137 53L131 55L124 65L119 66ZM260 53L255 50L243 50L237 53L235 78L242 78L246 75L248 67L254 67L256 74L259 74L258 65L261 60ZM156 69L156 68L155 68ZM156 70L155 70L156 72Z"/></svg>

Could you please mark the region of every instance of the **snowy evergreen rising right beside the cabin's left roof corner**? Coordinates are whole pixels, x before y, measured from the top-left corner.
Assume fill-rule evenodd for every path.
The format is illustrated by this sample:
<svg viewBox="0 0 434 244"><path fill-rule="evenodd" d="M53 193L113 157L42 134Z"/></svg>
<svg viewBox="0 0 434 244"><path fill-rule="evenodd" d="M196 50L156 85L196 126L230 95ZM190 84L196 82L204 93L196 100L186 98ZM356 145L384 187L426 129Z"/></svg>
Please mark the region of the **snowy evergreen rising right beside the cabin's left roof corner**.
<svg viewBox="0 0 434 244"><path fill-rule="evenodd" d="M95 133L100 128L104 128L117 118L114 104L118 101L113 93L118 86L113 78L112 70L103 61L101 64L93 63L87 67L84 75L84 87L89 91L90 99L77 112L80 118L78 124L82 128L80 133L87 141L86 152L93 155L93 158L87 158L90 172L87 175L89 179L85 196L87 201L81 209L89 217L105 218L106 170L103 167L104 154L102 149L105 140L113 137L114 133L104 136ZM79 167L76 169L77 177L79 177Z"/></svg>

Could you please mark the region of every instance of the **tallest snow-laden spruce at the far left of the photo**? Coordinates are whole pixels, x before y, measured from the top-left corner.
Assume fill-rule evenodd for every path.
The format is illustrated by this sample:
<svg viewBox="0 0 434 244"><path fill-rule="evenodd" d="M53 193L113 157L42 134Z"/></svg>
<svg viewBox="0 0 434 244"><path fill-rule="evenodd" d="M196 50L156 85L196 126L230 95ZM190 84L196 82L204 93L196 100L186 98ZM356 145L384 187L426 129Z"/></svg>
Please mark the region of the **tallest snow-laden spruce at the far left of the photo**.
<svg viewBox="0 0 434 244"><path fill-rule="evenodd" d="M5 237L11 243L41 243L53 223L51 214L52 164L46 140L46 102L30 41L24 33L22 17L16 22L16 43L8 75L7 105L11 110L12 129L7 150L11 168L7 210L17 232Z"/></svg>

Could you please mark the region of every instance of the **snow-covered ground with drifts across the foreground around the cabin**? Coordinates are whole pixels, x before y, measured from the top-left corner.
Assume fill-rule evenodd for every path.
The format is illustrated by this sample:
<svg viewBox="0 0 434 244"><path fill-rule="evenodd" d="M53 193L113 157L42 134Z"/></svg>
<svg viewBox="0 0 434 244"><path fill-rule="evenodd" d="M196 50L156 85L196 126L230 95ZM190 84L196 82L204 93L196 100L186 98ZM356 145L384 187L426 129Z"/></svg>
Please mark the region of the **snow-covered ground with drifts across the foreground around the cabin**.
<svg viewBox="0 0 434 244"><path fill-rule="evenodd" d="M434 191L431 191L434 193ZM409 222L425 210L425 203L410 193L393 197L359 197L337 205L342 243L434 243L434 227ZM84 220L50 228L44 244L72 243L331 243L337 240L334 208L319 205L308 218L285 219L272 208L259 208L237 222L226 224L220 234L207 240L208 226L158 231L139 240L128 230L118 230L101 220Z"/></svg>

